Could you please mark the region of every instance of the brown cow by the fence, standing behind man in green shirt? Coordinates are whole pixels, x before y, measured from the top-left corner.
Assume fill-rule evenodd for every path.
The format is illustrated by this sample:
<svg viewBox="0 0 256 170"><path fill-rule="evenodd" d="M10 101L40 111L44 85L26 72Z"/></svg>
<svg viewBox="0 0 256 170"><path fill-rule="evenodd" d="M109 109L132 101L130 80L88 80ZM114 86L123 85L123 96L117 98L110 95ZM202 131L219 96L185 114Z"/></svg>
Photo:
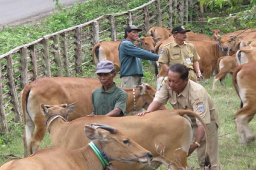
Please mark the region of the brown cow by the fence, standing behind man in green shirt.
<svg viewBox="0 0 256 170"><path fill-rule="evenodd" d="M23 134L24 156L35 153L44 138L45 118L40 111L40 104L76 103L76 109L69 120L92 113L92 91L101 86L98 79L78 77L42 78L29 83L21 92L21 107L24 116L25 132ZM124 89L128 93L127 113L141 108L148 108L154 99L155 90L151 85L141 85L139 88ZM135 98L135 99L134 99ZM135 107L134 107L135 100ZM83 111L81 113L81 111ZM35 133L33 131L35 129Z"/></svg>

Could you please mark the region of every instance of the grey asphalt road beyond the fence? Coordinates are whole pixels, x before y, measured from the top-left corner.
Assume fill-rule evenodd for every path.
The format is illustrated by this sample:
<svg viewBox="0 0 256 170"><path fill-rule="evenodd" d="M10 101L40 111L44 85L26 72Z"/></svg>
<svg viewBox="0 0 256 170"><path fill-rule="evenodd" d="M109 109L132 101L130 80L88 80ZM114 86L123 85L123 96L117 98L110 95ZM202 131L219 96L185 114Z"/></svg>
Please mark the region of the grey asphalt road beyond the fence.
<svg viewBox="0 0 256 170"><path fill-rule="evenodd" d="M66 6L85 0L59 0ZM52 0L0 0L0 26L30 22L50 14L55 9Z"/></svg>

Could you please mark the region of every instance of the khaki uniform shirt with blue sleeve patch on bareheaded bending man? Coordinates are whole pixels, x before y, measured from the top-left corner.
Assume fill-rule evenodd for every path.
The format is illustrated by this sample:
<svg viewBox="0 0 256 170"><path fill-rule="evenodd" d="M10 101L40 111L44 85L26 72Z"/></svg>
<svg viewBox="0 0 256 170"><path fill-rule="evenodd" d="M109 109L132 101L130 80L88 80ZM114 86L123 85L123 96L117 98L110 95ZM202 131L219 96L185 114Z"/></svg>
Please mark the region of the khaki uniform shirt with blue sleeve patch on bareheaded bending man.
<svg viewBox="0 0 256 170"><path fill-rule="evenodd" d="M184 90L177 94L169 88L167 82L168 77L165 77L163 87L157 91L154 101L166 104L169 100L174 109L194 111L203 119L205 124L215 121L219 127L218 111L215 109L214 101L203 86L189 80ZM195 117L189 116L189 118L193 125L201 125L201 122Z"/></svg>

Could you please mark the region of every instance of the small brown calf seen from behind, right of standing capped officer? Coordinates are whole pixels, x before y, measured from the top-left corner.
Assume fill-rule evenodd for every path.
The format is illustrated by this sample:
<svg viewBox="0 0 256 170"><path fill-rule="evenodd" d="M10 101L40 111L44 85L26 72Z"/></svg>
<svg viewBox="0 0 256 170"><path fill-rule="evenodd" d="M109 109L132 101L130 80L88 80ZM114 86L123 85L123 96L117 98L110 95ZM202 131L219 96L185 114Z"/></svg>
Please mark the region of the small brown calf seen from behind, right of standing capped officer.
<svg viewBox="0 0 256 170"><path fill-rule="evenodd" d="M225 85L225 75L233 71L238 66L235 56L224 56L220 57L217 61L218 74L213 78L212 90L215 90L218 80L220 80L221 85Z"/></svg>

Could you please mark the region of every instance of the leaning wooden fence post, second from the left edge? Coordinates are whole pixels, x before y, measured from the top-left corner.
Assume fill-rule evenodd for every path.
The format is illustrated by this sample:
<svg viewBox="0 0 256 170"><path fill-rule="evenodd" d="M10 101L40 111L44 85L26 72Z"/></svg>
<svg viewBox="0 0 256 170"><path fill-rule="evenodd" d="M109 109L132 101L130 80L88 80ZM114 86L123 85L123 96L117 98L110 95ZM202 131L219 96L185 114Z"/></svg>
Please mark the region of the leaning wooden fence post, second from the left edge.
<svg viewBox="0 0 256 170"><path fill-rule="evenodd" d="M12 108L14 111L14 121L15 122L21 122L21 116L20 116L20 107L17 97L17 91L15 89L15 83L14 83L14 77L13 77L13 71L12 71L12 54L7 56L6 60L6 69L7 69L7 76L9 80L9 91L12 98Z"/></svg>

